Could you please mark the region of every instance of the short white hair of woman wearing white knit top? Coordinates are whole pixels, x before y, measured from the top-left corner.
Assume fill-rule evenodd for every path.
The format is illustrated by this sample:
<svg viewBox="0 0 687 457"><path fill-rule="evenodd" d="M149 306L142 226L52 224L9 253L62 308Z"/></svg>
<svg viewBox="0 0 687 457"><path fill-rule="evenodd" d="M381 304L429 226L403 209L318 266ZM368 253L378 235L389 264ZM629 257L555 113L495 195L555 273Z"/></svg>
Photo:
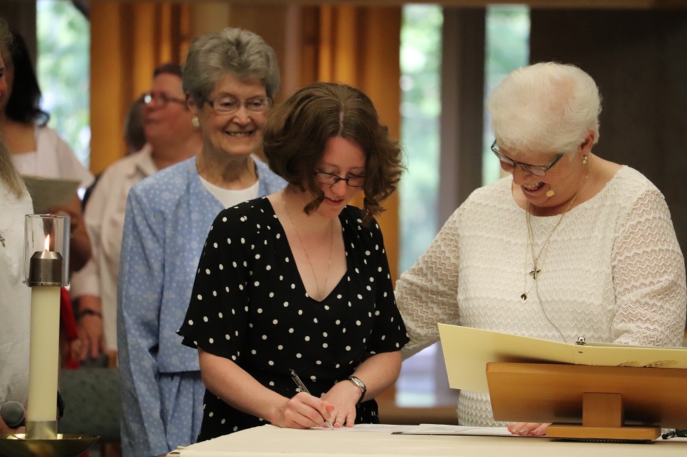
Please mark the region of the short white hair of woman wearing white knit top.
<svg viewBox="0 0 687 457"><path fill-rule="evenodd" d="M574 65L542 62L514 70L491 93L487 108L499 146L570 153L589 131L599 138L601 95Z"/></svg>

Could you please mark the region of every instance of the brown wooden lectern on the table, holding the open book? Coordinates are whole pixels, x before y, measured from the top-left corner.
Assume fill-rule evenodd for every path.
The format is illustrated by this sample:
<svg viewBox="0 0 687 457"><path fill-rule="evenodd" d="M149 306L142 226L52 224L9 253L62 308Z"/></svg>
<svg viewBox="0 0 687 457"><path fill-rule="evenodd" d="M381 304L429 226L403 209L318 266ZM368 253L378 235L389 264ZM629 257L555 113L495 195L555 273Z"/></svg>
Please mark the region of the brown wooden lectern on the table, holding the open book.
<svg viewBox="0 0 687 457"><path fill-rule="evenodd" d="M646 441L687 428L687 369L489 362L494 419L552 438Z"/></svg>

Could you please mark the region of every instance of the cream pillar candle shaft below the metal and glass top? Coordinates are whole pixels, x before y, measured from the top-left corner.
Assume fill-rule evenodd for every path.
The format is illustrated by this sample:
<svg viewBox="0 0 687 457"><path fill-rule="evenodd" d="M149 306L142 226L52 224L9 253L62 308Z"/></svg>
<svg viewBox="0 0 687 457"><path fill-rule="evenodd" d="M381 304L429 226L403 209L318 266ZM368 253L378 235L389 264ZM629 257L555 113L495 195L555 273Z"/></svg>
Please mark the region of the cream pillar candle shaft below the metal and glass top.
<svg viewBox="0 0 687 457"><path fill-rule="evenodd" d="M57 420L60 361L60 288L31 288L29 398L27 421Z"/></svg>

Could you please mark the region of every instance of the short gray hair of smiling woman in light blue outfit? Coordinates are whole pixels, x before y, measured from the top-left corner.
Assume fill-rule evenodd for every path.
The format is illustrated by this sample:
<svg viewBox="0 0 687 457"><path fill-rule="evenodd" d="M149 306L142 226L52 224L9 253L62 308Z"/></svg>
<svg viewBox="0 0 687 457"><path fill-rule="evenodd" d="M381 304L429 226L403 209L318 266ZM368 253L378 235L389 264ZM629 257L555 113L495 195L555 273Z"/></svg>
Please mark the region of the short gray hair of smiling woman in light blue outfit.
<svg viewBox="0 0 687 457"><path fill-rule="evenodd" d="M274 50L253 32L227 27L191 43L183 65L183 91L200 106L227 73L239 80L259 79L270 98L279 87Z"/></svg>

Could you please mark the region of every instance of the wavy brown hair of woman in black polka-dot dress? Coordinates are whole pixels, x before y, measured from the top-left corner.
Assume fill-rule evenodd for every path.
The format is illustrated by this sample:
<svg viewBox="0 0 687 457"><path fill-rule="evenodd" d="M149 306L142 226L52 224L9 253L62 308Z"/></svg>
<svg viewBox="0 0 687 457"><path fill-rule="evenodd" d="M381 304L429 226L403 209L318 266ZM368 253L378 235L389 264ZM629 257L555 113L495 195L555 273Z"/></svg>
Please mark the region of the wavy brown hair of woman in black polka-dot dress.
<svg viewBox="0 0 687 457"><path fill-rule="evenodd" d="M359 89L316 82L275 106L264 126L264 155L273 172L315 195L304 207L310 214L324 200L315 171L328 139L334 137L352 141L365 152L363 223L368 224L384 211L381 202L394 193L405 167L401 145L390 139L372 101Z"/></svg>

